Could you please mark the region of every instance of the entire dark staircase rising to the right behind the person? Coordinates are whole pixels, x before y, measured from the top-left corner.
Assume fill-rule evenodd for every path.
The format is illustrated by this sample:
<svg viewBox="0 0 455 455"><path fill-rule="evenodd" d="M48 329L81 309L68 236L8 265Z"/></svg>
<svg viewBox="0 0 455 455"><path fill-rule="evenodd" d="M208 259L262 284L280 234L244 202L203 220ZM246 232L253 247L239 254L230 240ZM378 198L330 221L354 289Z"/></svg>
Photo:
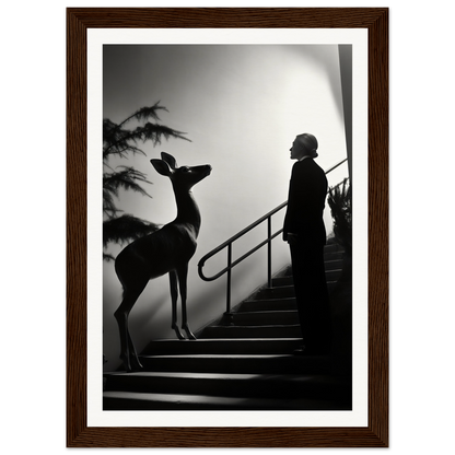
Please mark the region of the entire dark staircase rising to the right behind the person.
<svg viewBox="0 0 455 455"><path fill-rule="evenodd" d="M341 256L325 247L329 291ZM351 409L351 378L330 357L292 355L302 335L290 267L197 337L150 342L142 372L105 373L104 410Z"/></svg>

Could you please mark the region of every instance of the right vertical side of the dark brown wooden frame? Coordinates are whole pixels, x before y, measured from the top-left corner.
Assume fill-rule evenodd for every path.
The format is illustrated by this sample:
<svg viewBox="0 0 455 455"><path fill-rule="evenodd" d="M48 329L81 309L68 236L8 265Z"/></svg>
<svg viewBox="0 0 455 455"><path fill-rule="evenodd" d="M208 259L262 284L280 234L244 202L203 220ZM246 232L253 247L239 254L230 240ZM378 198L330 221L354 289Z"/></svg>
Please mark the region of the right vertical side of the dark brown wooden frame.
<svg viewBox="0 0 455 455"><path fill-rule="evenodd" d="M388 441L388 14L369 35L369 413Z"/></svg>

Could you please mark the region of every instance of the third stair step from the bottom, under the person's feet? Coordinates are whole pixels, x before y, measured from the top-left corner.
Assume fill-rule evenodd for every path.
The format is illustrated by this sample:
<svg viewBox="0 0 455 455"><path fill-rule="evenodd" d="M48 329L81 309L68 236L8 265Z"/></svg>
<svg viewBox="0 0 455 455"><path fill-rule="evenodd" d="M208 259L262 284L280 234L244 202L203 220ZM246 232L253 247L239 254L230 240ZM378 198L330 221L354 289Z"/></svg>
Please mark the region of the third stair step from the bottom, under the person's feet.
<svg viewBox="0 0 455 455"><path fill-rule="evenodd" d="M148 372L299 374L327 373L327 355L292 354L184 354L140 355Z"/></svg>

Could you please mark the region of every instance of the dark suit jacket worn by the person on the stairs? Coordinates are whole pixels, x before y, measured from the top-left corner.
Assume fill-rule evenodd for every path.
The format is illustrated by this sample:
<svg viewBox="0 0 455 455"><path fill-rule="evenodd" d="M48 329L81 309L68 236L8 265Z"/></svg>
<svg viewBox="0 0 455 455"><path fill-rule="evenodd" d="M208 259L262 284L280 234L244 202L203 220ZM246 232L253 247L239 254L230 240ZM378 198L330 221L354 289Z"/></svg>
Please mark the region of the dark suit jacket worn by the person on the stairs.
<svg viewBox="0 0 455 455"><path fill-rule="evenodd" d="M326 195L327 177L324 171L311 158L298 161L292 167L289 185L284 241L288 233L293 233L305 244L325 245L323 211Z"/></svg>

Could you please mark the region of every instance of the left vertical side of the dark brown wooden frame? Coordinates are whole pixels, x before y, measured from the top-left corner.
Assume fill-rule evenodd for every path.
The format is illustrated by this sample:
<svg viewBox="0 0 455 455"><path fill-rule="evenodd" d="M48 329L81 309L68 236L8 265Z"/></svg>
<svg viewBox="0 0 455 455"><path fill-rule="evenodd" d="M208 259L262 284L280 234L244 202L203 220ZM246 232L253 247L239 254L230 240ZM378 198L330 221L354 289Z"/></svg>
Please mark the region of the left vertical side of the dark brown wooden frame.
<svg viewBox="0 0 455 455"><path fill-rule="evenodd" d="M86 428L86 43L67 15L67 430ZM68 444L70 445L70 444Z"/></svg>

